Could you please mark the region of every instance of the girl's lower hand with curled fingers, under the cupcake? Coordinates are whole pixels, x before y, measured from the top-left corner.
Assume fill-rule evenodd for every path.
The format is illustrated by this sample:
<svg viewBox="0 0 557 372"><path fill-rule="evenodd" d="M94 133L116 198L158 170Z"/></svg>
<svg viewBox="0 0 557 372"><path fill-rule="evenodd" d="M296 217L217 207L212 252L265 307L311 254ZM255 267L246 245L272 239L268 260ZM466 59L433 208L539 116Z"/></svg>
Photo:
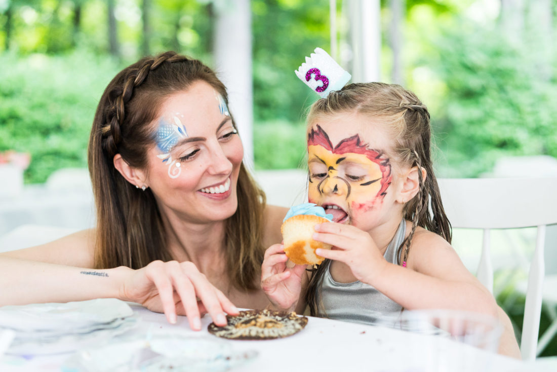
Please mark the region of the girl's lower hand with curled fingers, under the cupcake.
<svg viewBox="0 0 557 372"><path fill-rule="evenodd" d="M261 266L261 288L273 306L292 311L300 298L306 265L289 268L286 267L287 260L282 244L273 244L265 251Z"/></svg>

